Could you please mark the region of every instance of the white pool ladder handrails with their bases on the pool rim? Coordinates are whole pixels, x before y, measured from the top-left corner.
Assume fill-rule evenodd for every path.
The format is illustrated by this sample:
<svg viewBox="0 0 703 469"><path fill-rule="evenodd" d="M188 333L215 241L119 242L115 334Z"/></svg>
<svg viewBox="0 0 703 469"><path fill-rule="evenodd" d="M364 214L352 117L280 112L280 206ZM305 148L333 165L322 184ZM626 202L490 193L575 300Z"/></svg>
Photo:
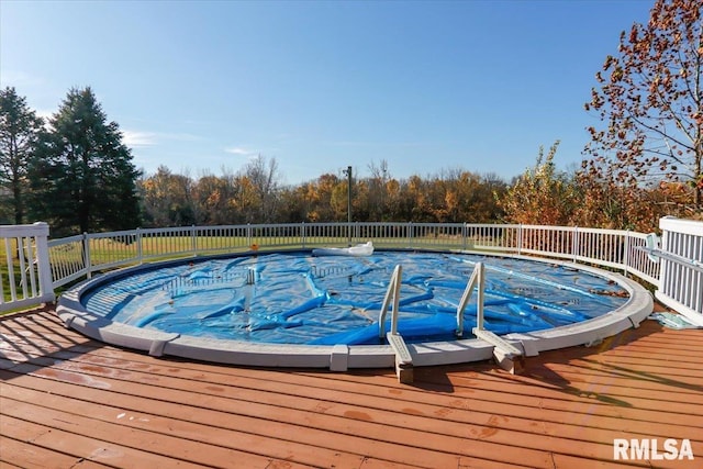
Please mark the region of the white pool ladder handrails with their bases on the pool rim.
<svg viewBox="0 0 703 469"><path fill-rule="evenodd" d="M455 334L457 337L461 337L464 335L464 311L466 310L466 306L471 299L471 294L476 289L478 291L476 310L477 317L476 327L473 327L471 332L477 338L488 342L493 346L493 358L501 368L511 372L516 372L520 371L524 365L522 350L483 327L483 303L486 297L484 271L486 268L483 263L476 263L476 267L471 272L471 277L469 278L466 289L464 290L464 294L461 295L461 300L459 301L459 305L457 306L457 328ZM398 376L398 380L403 383L409 383L413 381L413 357L405 345L405 340L398 333L402 273L403 268L400 265L395 266L395 269L393 269L393 273L391 275L391 280L388 284L388 290L386 291L386 297L383 298L381 311L379 312L378 327L379 338L382 339L386 337L395 354L395 375ZM391 310L391 330L386 333L386 315L391 301L393 303L393 308Z"/></svg>

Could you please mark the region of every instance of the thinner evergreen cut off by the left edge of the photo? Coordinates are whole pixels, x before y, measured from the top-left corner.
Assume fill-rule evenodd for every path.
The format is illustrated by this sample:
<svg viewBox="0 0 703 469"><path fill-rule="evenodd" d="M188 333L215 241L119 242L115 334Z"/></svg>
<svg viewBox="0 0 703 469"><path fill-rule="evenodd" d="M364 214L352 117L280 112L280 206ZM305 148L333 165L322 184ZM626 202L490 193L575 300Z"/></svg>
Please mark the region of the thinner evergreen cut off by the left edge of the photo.
<svg viewBox="0 0 703 469"><path fill-rule="evenodd" d="M42 120L14 88L0 91L0 208L7 222L25 222L27 161L36 148ZM3 216L4 219L4 216Z"/></svg>

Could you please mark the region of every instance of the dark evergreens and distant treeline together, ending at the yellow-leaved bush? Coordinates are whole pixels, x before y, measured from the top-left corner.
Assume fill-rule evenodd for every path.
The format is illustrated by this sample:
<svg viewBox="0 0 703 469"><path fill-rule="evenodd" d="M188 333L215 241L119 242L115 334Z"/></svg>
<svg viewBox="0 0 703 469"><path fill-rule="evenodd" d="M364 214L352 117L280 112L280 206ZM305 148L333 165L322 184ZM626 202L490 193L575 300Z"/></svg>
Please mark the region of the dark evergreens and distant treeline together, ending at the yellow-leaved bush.
<svg viewBox="0 0 703 469"><path fill-rule="evenodd" d="M334 222L349 180L325 174L283 186L275 158L198 178L137 170L91 88L70 89L44 121L14 88L0 91L0 221L45 221L54 236L137 226ZM462 169L397 179L386 161L352 179L354 221L496 222L507 185Z"/></svg>

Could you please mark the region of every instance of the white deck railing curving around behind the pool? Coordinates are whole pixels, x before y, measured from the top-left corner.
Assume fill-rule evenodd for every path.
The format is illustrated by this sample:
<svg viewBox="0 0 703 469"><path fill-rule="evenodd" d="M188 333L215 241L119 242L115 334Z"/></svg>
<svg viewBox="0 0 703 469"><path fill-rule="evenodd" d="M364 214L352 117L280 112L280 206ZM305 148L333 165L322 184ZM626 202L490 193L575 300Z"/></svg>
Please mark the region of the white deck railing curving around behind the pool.
<svg viewBox="0 0 703 469"><path fill-rule="evenodd" d="M648 256L645 233L574 226L289 223L137 228L60 239L47 239L46 224L4 226L0 228L7 257L0 311L49 301L54 290L67 283L149 260L252 249L346 246L371 241L379 248L518 254L622 270L655 287L657 295L669 306L703 317L703 273L700 271L703 222L666 217L660 221L660 227L661 250L684 259L698 259L699 267L652 259ZM33 267L27 270L27 266Z"/></svg>

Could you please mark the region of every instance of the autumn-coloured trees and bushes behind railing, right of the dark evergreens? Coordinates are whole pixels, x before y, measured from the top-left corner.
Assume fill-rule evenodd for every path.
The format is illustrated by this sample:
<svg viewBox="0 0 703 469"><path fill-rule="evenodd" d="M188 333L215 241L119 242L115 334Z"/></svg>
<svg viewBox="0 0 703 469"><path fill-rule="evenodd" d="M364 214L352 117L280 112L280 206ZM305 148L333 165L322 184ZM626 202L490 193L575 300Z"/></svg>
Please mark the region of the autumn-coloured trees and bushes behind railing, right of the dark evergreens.
<svg viewBox="0 0 703 469"><path fill-rule="evenodd" d="M628 187L584 168L557 170L559 142L534 166L506 182L462 168L434 176L394 178L386 161L370 176L352 178L352 219L357 222L523 223L657 231L661 216L701 217L690 185L667 179ZM324 174L281 186L276 159L263 156L237 172L191 178L161 166L138 181L144 226L242 223L346 222L349 178Z"/></svg>

